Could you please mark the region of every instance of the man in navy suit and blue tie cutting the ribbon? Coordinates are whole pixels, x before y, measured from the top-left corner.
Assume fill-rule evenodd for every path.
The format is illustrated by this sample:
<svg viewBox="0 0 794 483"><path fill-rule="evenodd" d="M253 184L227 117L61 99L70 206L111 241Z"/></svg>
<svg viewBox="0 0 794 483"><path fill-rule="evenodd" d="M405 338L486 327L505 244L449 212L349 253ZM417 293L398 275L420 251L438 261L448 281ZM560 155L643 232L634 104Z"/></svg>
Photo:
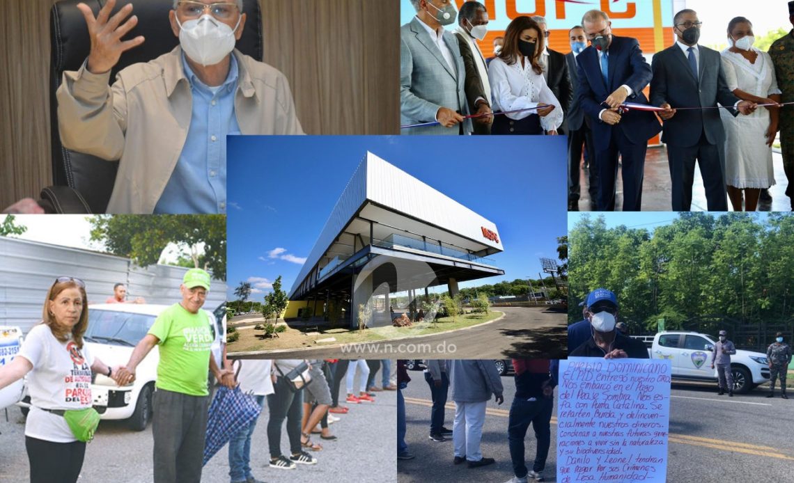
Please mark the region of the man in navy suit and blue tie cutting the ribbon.
<svg viewBox="0 0 794 483"><path fill-rule="evenodd" d="M647 104L642 89L651 70L636 39L611 34L611 21L601 10L582 17L584 34L592 45L577 57L579 88L577 101L590 117L598 167L599 211L615 209L618 156L622 159L623 211L639 211L648 140L661 131L656 116L648 111L620 113L629 99ZM625 122L623 122L625 121Z"/></svg>

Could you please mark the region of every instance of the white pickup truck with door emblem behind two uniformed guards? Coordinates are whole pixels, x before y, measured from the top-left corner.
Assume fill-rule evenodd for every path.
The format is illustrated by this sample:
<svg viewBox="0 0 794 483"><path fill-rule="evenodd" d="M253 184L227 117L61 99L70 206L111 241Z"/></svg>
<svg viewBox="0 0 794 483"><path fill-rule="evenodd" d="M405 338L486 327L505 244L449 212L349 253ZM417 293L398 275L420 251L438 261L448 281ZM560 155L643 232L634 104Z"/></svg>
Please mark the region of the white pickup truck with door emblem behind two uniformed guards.
<svg viewBox="0 0 794 483"><path fill-rule="evenodd" d="M717 370L711 369L715 341L709 335L669 331L632 337L646 344L650 358L672 361L673 379L717 381ZM734 374L734 393L747 393L769 381L766 355L761 352L737 349L736 354L730 356L730 369Z"/></svg>

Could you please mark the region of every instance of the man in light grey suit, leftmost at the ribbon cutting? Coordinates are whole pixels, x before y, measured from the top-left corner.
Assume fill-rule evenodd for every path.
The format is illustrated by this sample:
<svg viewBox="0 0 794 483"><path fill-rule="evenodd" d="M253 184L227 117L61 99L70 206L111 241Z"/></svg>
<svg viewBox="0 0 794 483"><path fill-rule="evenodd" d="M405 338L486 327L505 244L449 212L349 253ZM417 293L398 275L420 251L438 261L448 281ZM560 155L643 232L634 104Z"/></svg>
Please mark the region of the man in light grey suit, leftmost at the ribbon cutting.
<svg viewBox="0 0 794 483"><path fill-rule="evenodd" d="M410 0L416 17L400 27L400 124L403 134L469 134L466 70L457 38L444 30L455 21L451 0Z"/></svg>

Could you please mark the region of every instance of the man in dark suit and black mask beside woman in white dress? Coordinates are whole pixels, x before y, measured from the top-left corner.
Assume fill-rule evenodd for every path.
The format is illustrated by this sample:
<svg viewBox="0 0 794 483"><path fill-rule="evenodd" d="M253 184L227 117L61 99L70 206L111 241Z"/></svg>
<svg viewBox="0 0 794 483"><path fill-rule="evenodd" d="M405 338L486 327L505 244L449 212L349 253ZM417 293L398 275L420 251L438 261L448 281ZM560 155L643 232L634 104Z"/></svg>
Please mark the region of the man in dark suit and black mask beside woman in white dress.
<svg viewBox="0 0 794 483"><path fill-rule="evenodd" d="M727 211L725 186L725 130L719 109L673 107L733 106L737 115L752 113L756 105L739 101L728 89L719 52L698 45L700 21L695 10L681 10L673 17L676 44L653 56L651 104L665 108L661 140L667 144L667 159L673 186L673 210L689 211L695 161L706 190L709 211Z"/></svg>

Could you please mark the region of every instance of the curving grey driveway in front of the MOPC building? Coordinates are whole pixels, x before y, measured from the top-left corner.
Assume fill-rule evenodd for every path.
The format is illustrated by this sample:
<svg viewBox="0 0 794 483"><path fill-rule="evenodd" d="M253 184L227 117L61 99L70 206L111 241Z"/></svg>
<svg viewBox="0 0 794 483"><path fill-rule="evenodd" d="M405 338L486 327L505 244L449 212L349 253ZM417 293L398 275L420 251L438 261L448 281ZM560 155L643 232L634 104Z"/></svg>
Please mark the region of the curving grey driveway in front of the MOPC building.
<svg viewBox="0 0 794 483"><path fill-rule="evenodd" d="M568 320L565 312L536 307L499 307L498 321L394 343L348 344L295 351L276 351L279 358L564 358ZM454 350L453 350L454 349Z"/></svg>

